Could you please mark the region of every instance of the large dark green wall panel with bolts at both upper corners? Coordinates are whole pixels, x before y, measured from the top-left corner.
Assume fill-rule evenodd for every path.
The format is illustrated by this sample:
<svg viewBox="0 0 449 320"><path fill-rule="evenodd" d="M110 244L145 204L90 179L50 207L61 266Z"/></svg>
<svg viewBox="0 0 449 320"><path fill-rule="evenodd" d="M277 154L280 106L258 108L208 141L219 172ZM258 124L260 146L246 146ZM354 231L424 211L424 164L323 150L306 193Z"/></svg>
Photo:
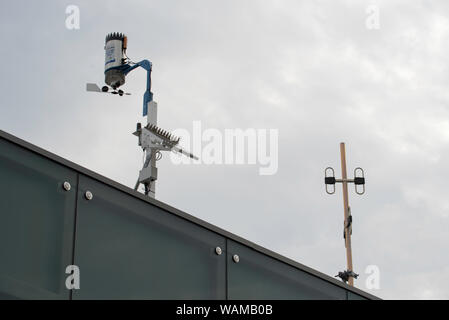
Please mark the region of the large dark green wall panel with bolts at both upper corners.
<svg viewBox="0 0 449 320"><path fill-rule="evenodd" d="M74 299L226 298L224 237L83 175L77 207Z"/></svg>

